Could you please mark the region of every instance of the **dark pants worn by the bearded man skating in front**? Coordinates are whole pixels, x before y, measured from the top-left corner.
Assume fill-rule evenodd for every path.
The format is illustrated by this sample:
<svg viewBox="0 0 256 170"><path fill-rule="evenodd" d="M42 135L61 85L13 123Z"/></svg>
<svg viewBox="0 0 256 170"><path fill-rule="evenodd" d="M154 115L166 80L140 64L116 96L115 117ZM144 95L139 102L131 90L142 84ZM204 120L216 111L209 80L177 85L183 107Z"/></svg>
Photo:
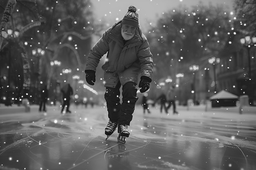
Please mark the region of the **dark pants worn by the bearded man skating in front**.
<svg viewBox="0 0 256 170"><path fill-rule="evenodd" d="M118 82L116 88L106 87L104 97L107 102L108 118L110 121L130 125L135 103L138 100L137 88L135 86L136 84L134 82L124 84L122 88L122 104L120 104L119 98L121 83Z"/></svg>

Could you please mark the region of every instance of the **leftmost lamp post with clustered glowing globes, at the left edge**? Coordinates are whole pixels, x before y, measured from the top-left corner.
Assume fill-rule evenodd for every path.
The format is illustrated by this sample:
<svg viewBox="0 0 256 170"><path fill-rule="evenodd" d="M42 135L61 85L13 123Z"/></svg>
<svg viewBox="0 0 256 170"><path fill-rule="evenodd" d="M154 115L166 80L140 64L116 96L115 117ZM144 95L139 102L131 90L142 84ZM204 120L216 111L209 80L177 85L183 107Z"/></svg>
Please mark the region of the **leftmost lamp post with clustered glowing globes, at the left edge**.
<svg viewBox="0 0 256 170"><path fill-rule="evenodd" d="M1 35L4 39L9 39L9 38L18 38L18 36L20 35L20 32L15 30L13 31L12 29L7 29L7 31L1 31ZM10 87L10 83L11 83L11 50L9 50L9 60L8 60L8 85L7 88L9 88L9 90L7 90L7 99L6 99L6 106L11 105L11 87ZM2 88L2 87L1 87Z"/></svg>

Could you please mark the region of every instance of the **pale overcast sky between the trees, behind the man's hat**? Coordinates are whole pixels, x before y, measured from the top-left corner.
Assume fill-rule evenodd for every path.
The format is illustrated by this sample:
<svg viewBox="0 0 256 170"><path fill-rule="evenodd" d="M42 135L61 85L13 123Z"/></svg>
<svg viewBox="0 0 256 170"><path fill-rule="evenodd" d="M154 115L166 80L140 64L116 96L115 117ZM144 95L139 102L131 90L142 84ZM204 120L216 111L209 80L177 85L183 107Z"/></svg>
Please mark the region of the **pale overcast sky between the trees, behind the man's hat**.
<svg viewBox="0 0 256 170"><path fill-rule="evenodd" d="M148 23L154 24L164 12L172 10L179 5L186 7L198 5L200 0L92 0L92 8L98 20L108 21L109 26L124 17L128 7L134 5L139 14L139 24L142 29ZM232 11L234 0L202 0L203 4L221 4L228 11Z"/></svg>

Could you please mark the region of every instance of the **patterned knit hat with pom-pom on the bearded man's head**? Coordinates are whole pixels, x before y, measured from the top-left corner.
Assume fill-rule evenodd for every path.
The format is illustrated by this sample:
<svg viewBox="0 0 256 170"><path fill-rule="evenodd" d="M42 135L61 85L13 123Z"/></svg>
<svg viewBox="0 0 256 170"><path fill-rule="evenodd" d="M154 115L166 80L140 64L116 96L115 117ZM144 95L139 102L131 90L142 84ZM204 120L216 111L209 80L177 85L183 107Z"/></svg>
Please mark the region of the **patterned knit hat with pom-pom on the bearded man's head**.
<svg viewBox="0 0 256 170"><path fill-rule="evenodd" d="M122 24L129 24L129 25L137 27L139 25L139 15L136 11L137 11L137 8L133 5L131 5L128 8L127 13L124 15Z"/></svg>

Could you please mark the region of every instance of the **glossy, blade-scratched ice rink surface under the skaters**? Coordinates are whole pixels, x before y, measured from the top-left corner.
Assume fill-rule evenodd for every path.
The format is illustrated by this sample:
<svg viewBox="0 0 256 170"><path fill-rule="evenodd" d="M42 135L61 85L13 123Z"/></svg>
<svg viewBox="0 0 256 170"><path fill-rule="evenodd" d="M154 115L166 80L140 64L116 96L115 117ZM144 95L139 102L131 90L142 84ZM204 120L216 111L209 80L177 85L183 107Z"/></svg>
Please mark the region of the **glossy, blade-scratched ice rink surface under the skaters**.
<svg viewBox="0 0 256 170"><path fill-rule="evenodd" d="M0 106L1 170L256 170L256 109L136 105L126 144L106 141L103 106Z"/></svg>

